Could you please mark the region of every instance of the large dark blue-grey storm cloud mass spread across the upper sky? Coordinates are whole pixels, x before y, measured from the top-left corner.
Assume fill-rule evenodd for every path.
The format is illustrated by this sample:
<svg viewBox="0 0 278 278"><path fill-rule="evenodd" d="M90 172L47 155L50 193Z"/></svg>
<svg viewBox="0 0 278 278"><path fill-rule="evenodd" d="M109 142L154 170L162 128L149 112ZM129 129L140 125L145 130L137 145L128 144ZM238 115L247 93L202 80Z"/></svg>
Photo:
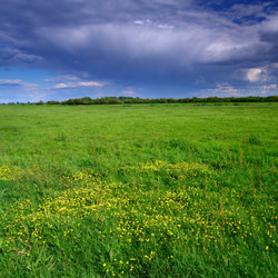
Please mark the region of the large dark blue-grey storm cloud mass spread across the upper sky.
<svg viewBox="0 0 278 278"><path fill-rule="evenodd" d="M4 46L0 66L192 88L278 82L271 66L278 62L276 6L275 1L0 0Z"/></svg>

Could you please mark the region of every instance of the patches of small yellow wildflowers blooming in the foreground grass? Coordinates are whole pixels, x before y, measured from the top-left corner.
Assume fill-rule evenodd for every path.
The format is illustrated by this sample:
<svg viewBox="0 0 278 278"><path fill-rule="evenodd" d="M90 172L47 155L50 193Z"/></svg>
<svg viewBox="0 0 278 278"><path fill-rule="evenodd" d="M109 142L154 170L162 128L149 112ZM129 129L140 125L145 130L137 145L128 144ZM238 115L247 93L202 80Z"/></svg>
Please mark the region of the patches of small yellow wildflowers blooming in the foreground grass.
<svg viewBox="0 0 278 278"><path fill-rule="evenodd" d="M250 193L250 206L245 207L241 198L246 192L240 187L224 190L215 185L208 191L192 182L187 187L178 182L193 177L211 181L219 173L208 166L155 161L126 170L173 177L176 187L108 182L90 171L64 173L61 179L68 188L58 197L46 197L38 207L26 199L11 205L3 214L0 225L4 247L21 250L28 244L60 242L59 237L75 241L90 219L90 227L95 227L99 238L117 241L123 254L132 257L113 254L109 260L101 261L103 271L112 276L136 271L156 258L171 260L175 258L171 246L231 250L256 242L264 234L264 249L277 247L275 200L266 202ZM0 168L2 177L12 179L12 171ZM135 248L136 252L131 252Z"/></svg>

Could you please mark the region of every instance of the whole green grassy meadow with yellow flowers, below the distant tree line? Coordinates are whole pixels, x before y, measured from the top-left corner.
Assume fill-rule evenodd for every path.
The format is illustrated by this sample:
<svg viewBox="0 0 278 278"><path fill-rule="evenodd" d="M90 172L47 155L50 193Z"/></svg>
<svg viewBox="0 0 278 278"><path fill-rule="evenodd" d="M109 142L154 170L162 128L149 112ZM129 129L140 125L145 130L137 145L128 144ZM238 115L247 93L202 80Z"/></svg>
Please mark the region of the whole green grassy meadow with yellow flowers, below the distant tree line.
<svg viewBox="0 0 278 278"><path fill-rule="evenodd" d="M278 103L0 106L0 277L278 277Z"/></svg>

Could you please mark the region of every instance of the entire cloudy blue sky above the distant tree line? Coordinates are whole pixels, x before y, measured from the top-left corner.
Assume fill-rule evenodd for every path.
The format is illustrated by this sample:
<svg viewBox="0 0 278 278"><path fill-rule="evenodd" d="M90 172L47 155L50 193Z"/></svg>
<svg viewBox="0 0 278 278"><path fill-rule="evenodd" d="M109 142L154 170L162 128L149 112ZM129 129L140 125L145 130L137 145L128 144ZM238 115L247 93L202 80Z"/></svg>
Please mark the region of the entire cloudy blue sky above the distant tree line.
<svg viewBox="0 0 278 278"><path fill-rule="evenodd" d="M277 0L0 0L0 103L274 95Z"/></svg>

